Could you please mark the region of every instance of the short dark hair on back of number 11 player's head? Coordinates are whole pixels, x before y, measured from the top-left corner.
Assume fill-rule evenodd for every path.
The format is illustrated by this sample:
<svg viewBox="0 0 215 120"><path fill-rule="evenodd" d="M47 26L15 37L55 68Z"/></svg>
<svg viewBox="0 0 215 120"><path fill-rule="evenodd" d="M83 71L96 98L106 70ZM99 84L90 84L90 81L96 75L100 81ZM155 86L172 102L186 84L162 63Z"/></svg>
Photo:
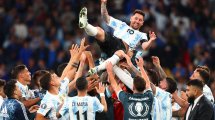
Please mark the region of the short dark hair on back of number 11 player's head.
<svg viewBox="0 0 215 120"><path fill-rule="evenodd" d="M88 81L86 80L86 77L79 77L76 80L76 89L79 91L86 90L88 87Z"/></svg>

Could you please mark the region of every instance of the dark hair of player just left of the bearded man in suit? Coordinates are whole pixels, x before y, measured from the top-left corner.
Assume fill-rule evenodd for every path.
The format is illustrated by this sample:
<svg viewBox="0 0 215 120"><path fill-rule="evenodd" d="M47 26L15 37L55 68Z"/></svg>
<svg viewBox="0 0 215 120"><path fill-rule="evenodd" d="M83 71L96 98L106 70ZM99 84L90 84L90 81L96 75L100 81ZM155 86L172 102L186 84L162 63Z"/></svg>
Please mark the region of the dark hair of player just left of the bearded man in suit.
<svg viewBox="0 0 215 120"><path fill-rule="evenodd" d="M176 91L176 89L177 89L176 81L174 79L172 79L172 78L167 77L166 82L168 84L168 87L167 87L166 91L171 93L171 94L174 93Z"/></svg>

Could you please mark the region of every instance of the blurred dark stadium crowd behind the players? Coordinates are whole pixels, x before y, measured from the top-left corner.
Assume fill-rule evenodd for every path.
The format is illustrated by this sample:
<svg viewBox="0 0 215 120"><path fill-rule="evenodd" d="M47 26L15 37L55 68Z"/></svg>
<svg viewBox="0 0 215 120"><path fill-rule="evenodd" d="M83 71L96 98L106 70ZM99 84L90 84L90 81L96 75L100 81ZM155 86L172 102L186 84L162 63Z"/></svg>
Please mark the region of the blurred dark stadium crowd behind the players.
<svg viewBox="0 0 215 120"><path fill-rule="evenodd" d="M88 21L109 28L101 19L100 0L0 0L0 78L9 79L11 68L24 63L31 74L54 69L69 59L69 48L83 37L94 59L101 51L94 38L78 27L81 7ZM197 65L211 69L208 83L215 91L215 0L109 0L109 14L129 23L135 9L146 16L141 31L155 31L156 42L148 56L158 56L166 73L178 85L188 81ZM215 93L214 93L215 94Z"/></svg>

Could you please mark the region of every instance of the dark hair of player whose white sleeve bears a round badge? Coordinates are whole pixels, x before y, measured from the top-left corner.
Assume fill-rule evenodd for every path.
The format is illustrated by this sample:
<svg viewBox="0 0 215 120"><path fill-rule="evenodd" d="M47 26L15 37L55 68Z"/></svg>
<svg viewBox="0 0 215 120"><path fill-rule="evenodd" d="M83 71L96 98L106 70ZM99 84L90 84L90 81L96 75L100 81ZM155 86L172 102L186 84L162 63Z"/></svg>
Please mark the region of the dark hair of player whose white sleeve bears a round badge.
<svg viewBox="0 0 215 120"><path fill-rule="evenodd" d="M50 81L51 81L51 73L45 73L41 78L40 78L40 85L42 89L44 90L49 90L50 88Z"/></svg>

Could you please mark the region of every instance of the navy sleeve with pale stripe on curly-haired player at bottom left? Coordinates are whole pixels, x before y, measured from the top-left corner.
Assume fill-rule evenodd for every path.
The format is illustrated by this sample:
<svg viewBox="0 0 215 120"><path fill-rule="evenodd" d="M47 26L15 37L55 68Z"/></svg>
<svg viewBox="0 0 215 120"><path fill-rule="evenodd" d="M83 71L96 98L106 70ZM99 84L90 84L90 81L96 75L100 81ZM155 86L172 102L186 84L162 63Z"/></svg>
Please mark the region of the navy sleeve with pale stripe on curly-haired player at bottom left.
<svg viewBox="0 0 215 120"><path fill-rule="evenodd" d="M26 112L26 108L22 103L16 104L15 116L18 120L29 120Z"/></svg>

